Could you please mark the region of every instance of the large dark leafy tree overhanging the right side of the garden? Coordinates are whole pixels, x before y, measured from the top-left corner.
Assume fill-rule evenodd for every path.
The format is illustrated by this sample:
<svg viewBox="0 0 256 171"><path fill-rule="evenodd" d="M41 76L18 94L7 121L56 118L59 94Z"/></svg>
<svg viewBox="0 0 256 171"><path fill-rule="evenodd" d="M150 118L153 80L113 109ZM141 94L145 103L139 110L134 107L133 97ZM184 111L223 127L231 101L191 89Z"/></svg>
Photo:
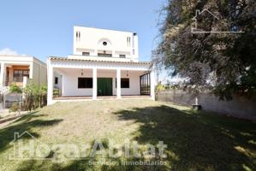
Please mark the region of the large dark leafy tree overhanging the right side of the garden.
<svg viewBox="0 0 256 171"><path fill-rule="evenodd" d="M191 32L197 9L208 9L219 19L199 18L199 29L243 33ZM158 60L153 62L163 62L170 74L181 75L197 89L210 89L221 99L231 99L233 93L255 95L254 0L169 0L164 11L161 42L153 53Z"/></svg>

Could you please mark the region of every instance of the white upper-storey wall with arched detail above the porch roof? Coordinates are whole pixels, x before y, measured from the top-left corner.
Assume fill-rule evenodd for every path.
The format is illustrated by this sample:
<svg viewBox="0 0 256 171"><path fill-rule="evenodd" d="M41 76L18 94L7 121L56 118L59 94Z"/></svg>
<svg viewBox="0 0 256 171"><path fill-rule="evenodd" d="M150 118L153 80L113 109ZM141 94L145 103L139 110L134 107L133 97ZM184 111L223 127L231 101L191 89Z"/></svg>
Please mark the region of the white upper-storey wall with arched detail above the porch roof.
<svg viewBox="0 0 256 171"><path fill-rule="evenodd" d="M76 38L80 32L80 38ZM127 38L130 38L130 44ZM107 45L103 45L103 42ZM137 59L139 56L138 36L134 32L121 32L92 27L74 27L74 55L82 55L83 51L90 56L98 56L98 50L110 51L112 56L126 55L127 58Z"/></svg>

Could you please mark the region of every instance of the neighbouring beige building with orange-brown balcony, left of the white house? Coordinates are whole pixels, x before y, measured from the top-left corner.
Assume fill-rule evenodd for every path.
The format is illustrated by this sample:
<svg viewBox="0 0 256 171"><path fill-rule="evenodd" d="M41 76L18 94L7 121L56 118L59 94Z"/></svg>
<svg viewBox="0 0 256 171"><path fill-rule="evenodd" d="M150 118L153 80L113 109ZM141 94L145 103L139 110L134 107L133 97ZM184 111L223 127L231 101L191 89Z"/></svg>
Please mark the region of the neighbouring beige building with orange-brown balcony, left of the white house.
<svg viewBox="0 0 256 171"><path fill-rule="evenodd" d="M46 64L33 56L0 56L0 92L8 92L15 83L26 86L27 80L35 85L46 84Z"/></svg>

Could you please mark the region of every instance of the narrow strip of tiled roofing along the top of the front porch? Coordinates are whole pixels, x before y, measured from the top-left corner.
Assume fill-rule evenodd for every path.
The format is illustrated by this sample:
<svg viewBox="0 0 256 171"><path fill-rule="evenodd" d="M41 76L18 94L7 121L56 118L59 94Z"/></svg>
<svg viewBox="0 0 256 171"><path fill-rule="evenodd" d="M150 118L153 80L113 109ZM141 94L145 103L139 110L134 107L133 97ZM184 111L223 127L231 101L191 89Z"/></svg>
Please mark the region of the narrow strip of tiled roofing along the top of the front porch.
<svg viewBox="0 0 256 171"><path fill-rule="evenodd" d="M134 64L144 64L151 65L152 62L124 62L124 61L105 61L100 59L73 59L68 57L60 57L60 56L49 56L51 61L68 61L68 62L114 62L114 63L134 63Z"/></svg>

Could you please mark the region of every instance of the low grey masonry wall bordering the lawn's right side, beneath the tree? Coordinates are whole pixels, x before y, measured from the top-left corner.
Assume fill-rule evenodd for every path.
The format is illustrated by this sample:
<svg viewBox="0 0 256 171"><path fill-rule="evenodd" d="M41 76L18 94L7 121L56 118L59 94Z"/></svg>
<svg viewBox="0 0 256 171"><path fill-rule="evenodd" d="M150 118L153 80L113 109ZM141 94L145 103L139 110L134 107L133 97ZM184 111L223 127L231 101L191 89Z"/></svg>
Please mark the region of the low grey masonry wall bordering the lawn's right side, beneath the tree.
<svg viewBox="0 0 256 171"><path fill-rule="evenodd" d="M158 91L156 96L159 101L188 106L194 104L195 97L198 97L199 105L204 110L256 120L256 97L247 99L246 97L234 95L231 101L220 101L218 97L211 93L201 93L195 96L189 91L177 89Z"/></svg>

